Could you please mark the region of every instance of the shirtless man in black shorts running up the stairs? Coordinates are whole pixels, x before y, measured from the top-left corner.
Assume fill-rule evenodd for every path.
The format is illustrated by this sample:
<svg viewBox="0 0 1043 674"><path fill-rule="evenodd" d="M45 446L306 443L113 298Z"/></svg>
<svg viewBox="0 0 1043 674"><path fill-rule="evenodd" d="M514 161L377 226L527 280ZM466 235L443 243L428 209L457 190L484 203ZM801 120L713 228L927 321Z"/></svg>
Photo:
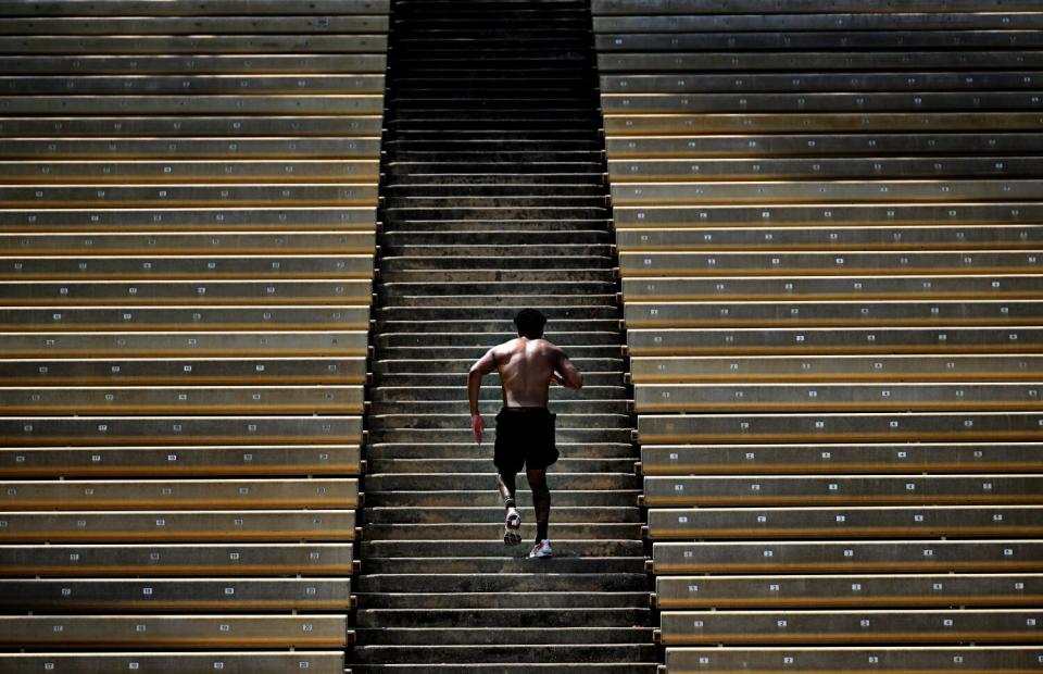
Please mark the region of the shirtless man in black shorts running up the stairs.
<svg viewBox="0 0 1043 674"><path fill-rule="evenodd" d="M565 352L543 339L546 317L535 309L523 309L514 319L518 338L489 349L472 365L467 378L470 399L470 427L481 445L486 424L478 411L481 377L500 372L503 408L497 414L497 445L493 463L498 470L500 495L506 508L503 542L522 542L522 515L514 501L515 475L525 466L532 504L536 507L536 545L529 557L551 557L546 525L551 516L551 492L546 488L546 467L557 461L554 446L554 414L546 409L551 382L568 388L583 386L583 375Z"/></svg>

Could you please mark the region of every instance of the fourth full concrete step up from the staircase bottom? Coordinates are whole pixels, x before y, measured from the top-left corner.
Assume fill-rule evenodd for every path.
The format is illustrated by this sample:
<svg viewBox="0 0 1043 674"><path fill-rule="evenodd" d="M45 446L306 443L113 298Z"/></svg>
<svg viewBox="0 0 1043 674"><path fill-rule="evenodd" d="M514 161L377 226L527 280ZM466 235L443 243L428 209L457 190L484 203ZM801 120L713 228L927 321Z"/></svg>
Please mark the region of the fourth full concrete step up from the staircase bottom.
<svg viewBox="0 0 1043 674"><path fill-rule="evenodd" d="M533 577L537 574L525 573L522 577ZM542 574L539 574L542 575ZM619 574L621 575L621 574ZM643 574L642 574L643 576ZM506 576L505 576L506 577ZM569 576L563 575L568 579ZM425 584L428 588L436 585L441 588L444 575L425 575ZM608 584L612 585L611 583ZM560 609L567 611L570 609L643 609L649 606L651 595L646 590L624 591L620 589L608 589L599 591L596 588L587 591L550 591L544 589L514 588L502 590L479 590L475 592L453 591L447 592L394 592L388 589L378 589L374 594L359 595L360 609L442 609L452 603L457 609ZM479 640L485 635L474 635L470 644L489 644L490 641ZM511 637L504 637L510 639ZM590 635L588 638L595 638ZM392 641L388 641L392 642ZM409 641L406 641L409 642ZM464 642L464 641L461 641ZM495 644L497 641L492 641ZM515 641L510 641L515 642ZM536 641L524 641L535 644ZM566 641L567 642L567 641Z"/></svg>

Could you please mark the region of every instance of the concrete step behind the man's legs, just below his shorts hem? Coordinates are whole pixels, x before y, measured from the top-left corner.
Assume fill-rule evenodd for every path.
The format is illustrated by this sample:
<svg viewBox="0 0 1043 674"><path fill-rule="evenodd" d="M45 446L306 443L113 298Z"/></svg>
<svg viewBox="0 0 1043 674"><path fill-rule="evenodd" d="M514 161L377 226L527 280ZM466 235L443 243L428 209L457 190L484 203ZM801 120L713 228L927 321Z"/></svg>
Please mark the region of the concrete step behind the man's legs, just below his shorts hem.
<svg viewBox="0 0 1043 674"><path fill-rule="evenodd" d="M469 432L469 430L468 430ZM548 484L553 494L556 489L582 490L612 490L638 489L638 478L629 473L562 473L548 476ZM487 473L414 473L412 475L397 475L382 473L367 475L365 491L372 495L376 491L411 491L424 490L457 490L457 489L490 489L497 488L497 475Z"/></svg>

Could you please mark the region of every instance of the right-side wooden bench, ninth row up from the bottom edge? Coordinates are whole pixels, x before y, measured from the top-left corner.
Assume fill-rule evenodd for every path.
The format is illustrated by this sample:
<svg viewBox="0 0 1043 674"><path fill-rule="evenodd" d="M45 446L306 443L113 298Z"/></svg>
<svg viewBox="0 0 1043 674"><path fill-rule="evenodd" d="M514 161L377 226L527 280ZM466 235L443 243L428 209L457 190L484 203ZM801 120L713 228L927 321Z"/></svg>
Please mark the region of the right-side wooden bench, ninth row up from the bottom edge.
<svg viewBox="0 0 1043 674"><path fill-rule="evenodd" d="M36 394L39 395L39 394ZM638 384L634 408L657 412L1039 410L1030 383ZM0 389L0 400L11 399ZM17 397L11 400L14 405ZM41 403L42 404L42 403Z"/></svg>

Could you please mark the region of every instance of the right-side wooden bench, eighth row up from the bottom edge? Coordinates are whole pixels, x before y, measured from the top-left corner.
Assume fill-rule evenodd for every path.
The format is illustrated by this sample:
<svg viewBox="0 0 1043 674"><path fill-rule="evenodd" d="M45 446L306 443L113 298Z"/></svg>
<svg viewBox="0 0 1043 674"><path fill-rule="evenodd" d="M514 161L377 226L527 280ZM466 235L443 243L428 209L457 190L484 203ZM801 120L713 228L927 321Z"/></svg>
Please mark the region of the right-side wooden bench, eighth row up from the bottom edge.
<svg viewBox="0 0 1043 674"><path fill-rule="evenodd" d="M1041 412L656 414L638 419L645 445L1040 439Z"/></svg>

